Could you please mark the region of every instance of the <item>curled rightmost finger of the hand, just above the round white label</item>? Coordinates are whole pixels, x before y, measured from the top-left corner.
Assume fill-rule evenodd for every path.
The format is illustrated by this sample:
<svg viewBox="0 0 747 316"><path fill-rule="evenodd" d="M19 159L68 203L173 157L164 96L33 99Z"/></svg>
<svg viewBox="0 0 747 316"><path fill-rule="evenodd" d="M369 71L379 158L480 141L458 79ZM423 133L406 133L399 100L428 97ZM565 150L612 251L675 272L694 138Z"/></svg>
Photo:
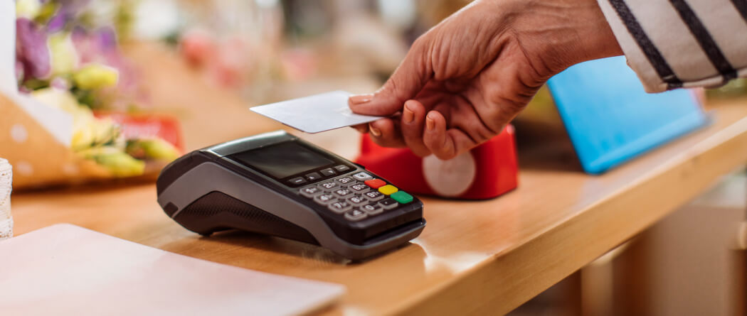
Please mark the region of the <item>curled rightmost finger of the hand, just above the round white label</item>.
<svg viewBox="0 0 747 316"><path fill-rule="evenodd" d="M438 159L451 159L477 145L462 130L447 130L446 118L438 111L430 111L425 121L423 142Z"/></svg>

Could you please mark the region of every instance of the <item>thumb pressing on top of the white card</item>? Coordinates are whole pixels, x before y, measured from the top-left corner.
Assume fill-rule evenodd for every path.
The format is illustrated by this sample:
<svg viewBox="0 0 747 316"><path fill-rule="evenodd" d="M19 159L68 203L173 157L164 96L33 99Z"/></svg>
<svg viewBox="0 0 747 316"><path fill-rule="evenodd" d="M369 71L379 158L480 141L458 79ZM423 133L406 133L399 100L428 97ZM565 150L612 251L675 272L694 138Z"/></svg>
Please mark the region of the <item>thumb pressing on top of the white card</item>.
<svg viewBox="0 0 747 316"><path fill-rule="evenodd" d="M353 113L391 116L402 110L405 101L415 98L433 72L422 38L415 41L400 66L373 94L351 95L348 105Z"/></svg>

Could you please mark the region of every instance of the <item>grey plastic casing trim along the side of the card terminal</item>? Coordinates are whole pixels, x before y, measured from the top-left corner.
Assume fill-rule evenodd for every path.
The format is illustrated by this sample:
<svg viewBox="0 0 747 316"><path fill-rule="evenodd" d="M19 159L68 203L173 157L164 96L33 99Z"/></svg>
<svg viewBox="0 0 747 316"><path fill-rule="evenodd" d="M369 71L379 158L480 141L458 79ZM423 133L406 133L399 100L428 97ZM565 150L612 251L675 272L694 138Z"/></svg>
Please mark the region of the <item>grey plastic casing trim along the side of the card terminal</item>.
<svg viewBox="0 0 747 316"><path fill-rule="evenodd" d="M230 154L261 148L264 145L272 145L287 140L296 139L285 132L267 133L252 137L252 142L240 139L235 142L227 142L211 148L205 148L201 151L205 154L214 155L217 158L223 158ZM221 161L221 163L226 162ZM246 166L238 165L230 160L227 163L232 163L247 171L251 171ZM356 169L356 171L358 170L364 169ZM252 177L258 177L258 180L262 180L262 182L272 180L270 177L258 174L255 171L252 171ZM216 162L206 161L195 165L193 168L189 168L189 170L180 174L176 180L173 180L172 183L166 186L158 195L158 203L164 210L167 207L172 209L176 207L171 212L170 217L179 221L179 213L187 206L190 206L191 203L205 197L211 192L222 192L225 195L241 200L244 203L303 228L316 239L320 246L353 260L365 259L366 257L406 244L407 241L417 237L425 226L424 219L421 219L421 223L405 225L404 227L399 227L398 230L394 230L396 233L384 234L385 238L379 237L375 241L365 244L352 244L337 236L323 218L320 217L317 210L301 203L297 199L288 197L288 192L296 192L297 189L288 189L288 192L282 191L264 185L259 181L252 180L247 175L239 174ZM418 201L418 203L420 202ZM169 212L167 211L167 213ZM350 225L359 224L350 223Z"/></svg>

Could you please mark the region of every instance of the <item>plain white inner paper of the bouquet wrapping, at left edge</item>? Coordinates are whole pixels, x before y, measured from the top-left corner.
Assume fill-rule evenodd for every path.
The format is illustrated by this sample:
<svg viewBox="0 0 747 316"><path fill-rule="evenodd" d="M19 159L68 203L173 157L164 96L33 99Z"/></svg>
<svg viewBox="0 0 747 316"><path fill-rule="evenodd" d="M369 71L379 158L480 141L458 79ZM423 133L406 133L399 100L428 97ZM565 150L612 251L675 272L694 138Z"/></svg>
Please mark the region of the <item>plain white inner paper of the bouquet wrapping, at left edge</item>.
<svg viewBox="0 0 747 316"><path fill-rule="evenodd" d="M0 93L34 118L62 145L72 141L72 116L18 92L16 83L16 2L0 0Z"/></svg>

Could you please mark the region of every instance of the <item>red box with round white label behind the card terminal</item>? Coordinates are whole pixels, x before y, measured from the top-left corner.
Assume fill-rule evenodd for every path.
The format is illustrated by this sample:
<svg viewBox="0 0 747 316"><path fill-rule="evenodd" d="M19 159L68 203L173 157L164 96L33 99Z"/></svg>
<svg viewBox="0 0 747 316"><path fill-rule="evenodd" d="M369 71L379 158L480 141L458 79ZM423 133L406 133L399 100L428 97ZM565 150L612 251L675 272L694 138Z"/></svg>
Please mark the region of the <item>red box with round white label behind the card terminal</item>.
<svg viewBox="0 0 747 316"><path fill-rule="evenodd" d="M453 159L421 158L408 148L383 148L363 135L356 162L407 192L468 200L498 197L518 186L514 128Z"/></svg>

